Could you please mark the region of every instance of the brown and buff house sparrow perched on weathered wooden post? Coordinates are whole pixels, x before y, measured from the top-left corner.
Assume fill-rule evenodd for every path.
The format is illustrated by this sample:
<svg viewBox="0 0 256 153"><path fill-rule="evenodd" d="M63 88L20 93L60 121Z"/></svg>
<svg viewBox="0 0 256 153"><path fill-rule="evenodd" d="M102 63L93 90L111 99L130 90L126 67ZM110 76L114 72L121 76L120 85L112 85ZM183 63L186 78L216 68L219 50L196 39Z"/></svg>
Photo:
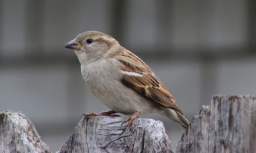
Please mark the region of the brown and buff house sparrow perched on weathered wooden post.
<svg viewBox="0 0 256 153"><path fill-rule="evenodd" d="M189 121L172 94L150 67L123 48L116 39L98 31L87 31L67 42L81 63L81 74L91 92L111 111L87 115L130 115L129 127L140 114L157 112L177 122L184 130Z"/></svg>

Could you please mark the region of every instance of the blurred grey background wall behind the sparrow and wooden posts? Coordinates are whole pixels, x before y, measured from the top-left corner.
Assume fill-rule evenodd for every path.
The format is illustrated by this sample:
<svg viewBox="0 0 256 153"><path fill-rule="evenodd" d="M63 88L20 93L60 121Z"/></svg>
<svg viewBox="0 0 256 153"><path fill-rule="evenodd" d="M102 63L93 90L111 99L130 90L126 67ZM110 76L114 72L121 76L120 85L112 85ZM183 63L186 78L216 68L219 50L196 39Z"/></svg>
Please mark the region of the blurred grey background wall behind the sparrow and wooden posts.
<svg viewBox="0 0 256 153"><path fill-rule="evenodd" d="M63 46L105 32L147 62L191 120L214 94L255 94L256 1L0 0L0 110L21 111L52 151L81 114L109 110ZM183 130L160 115L172 147Z"/></svg>

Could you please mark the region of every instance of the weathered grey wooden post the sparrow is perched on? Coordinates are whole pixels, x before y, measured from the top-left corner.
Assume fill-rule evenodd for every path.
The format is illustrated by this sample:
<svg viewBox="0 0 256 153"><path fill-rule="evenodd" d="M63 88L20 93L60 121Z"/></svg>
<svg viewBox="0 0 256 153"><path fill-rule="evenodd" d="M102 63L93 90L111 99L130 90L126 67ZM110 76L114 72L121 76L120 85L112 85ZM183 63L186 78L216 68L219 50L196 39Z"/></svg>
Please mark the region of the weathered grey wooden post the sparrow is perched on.
<svg viewBox="0 0 256 153"><path fill-rule="evenodd" d="M62 145L61 152L171 152L162 122L138 119L125 130L125 118L90 116L83 118Z"/></svg>

